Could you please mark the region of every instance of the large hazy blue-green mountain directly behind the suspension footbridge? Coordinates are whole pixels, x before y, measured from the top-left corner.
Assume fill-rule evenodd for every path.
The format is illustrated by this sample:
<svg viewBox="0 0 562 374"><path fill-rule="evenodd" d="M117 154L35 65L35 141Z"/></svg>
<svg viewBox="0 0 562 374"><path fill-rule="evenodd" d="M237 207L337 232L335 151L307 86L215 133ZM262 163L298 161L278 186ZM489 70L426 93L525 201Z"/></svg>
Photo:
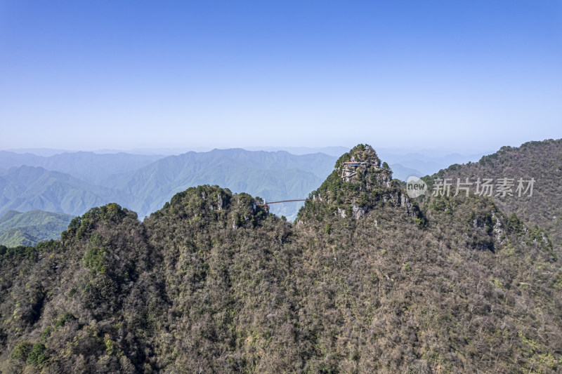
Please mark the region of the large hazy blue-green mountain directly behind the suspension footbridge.
<svg viewBox="0 0 562 374"><path fill-rule="evenodd" d="M283 151L214 149L160 159L107 181L107 185L134 196L131 208L143 217L161 208L174 194L203 184L249 191L268 201L302 199L334 169L334 162L334 157L321 153L297 156ZM284 205L272 208L280 215L296 213Z"/></svg>

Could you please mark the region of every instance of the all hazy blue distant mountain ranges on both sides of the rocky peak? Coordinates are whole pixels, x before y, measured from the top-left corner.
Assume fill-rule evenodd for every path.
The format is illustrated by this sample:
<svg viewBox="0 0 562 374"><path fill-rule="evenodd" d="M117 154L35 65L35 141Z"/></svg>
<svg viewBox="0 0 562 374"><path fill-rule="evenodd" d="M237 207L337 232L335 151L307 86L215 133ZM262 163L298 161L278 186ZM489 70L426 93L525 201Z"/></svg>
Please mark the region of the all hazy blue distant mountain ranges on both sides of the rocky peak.
<svg viewBox="0 0 562 374"><path fill-rule="evenodd" d="M36 209L80 215L93 206L117 202L144 218L177 192L203 184L249 192L267 201L300 199L326 178L334 168L335 155L345 148L289 150L300 154L246 149L213 149L177 156L35 150L45 155L40 156L0 151L0 215L9 210ZM325 153L305 153L317 150ZM391 165L394 178L401 180L473 158L425 153L400 156L391 152L384 150L384 159ZM277 204L271 211L292 220L300 206L299 202Z"/></svg>

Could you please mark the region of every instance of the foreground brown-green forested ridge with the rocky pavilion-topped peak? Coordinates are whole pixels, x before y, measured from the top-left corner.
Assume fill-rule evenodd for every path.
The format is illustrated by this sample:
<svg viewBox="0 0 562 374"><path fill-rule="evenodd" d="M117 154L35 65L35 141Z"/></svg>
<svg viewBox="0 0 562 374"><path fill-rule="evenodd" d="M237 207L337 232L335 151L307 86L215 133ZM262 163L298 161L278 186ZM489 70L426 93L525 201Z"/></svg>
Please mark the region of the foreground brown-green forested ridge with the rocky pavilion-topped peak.
<svg viewBox="0 0 562 374"><path fill-rule="evenodd" d="M202 185L0 246L6 373L556 373L559 248L483 196L407 197L358 145L294 223Z"/></svg>

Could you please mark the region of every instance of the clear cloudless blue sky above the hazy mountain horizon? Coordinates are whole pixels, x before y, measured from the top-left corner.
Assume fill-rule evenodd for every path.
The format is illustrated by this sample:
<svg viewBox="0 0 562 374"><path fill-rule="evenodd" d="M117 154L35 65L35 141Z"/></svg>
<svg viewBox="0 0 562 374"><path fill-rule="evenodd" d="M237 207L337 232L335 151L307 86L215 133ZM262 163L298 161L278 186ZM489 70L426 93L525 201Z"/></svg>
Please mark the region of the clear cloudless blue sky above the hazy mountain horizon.
<svg viewBox="0 0 562 374"><path fill-rule="evenodd" d="M0 0L0 149L562 138L562 0Z"/></svg>

